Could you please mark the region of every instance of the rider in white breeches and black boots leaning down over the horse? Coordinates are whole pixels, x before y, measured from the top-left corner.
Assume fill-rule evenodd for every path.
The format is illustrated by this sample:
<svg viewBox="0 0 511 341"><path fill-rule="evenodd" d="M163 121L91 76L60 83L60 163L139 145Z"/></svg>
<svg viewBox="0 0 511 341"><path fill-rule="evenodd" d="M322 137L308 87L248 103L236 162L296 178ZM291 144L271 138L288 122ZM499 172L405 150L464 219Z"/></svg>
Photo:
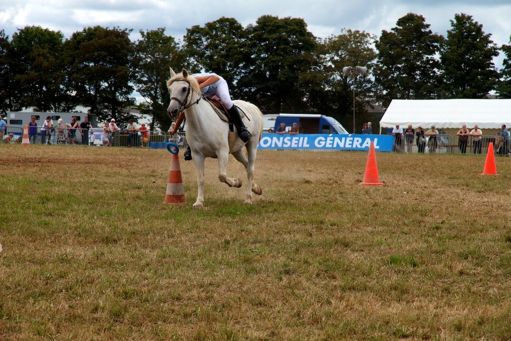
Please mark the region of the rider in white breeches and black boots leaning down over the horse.
<svg viewBox="0 0 511 341"><path fill-rule="evenodd" d="M230 99L229 87L225 79L215 73L194 74L192 77L199 83L202 95L208 98L217 96L220 99L222 104L227 108L231 122L233 122L238 129L238 135L241 141L247 143L251 138L251 134L247 130L247 127L243 124L238 108ZM177 129L181 126L183 119L184 112L180 112L179 117L176 120L175 128L170 130L171 135L176 133ZM187 150L184 152L184 160L192 160L192 150L190 149L190 146L188 146Z"/></svg>

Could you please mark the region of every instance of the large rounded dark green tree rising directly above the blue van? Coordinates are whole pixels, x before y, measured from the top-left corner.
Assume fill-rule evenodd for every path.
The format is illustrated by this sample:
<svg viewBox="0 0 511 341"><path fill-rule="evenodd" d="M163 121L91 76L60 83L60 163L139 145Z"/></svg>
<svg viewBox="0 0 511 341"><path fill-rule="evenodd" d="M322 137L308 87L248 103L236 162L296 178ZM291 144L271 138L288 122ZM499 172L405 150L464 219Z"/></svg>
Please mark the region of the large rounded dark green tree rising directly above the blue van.
<svg viewBox="0 0 511 341"><path fill-rule="evenodd" d="M263 111L306 110L306 86L301 81L315 63L317 41L305 21L264 15L245 31L250 55L237 83L240 97Z"/></svg>

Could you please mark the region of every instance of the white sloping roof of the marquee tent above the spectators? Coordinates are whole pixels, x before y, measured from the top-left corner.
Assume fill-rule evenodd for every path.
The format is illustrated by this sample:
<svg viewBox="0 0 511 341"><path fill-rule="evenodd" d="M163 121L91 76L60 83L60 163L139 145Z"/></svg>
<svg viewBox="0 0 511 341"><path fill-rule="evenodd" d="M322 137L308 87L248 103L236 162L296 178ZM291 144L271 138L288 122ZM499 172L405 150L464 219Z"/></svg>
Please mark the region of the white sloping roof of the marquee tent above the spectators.
<svg viewBox="0 0 511 341"><path fill-rule="evenodd" d="M471 128L481 129L511 126L511 99L447 99L447 100L392 100L380 120L380 127L392 128L399 124L427 129Z"/></svg>

